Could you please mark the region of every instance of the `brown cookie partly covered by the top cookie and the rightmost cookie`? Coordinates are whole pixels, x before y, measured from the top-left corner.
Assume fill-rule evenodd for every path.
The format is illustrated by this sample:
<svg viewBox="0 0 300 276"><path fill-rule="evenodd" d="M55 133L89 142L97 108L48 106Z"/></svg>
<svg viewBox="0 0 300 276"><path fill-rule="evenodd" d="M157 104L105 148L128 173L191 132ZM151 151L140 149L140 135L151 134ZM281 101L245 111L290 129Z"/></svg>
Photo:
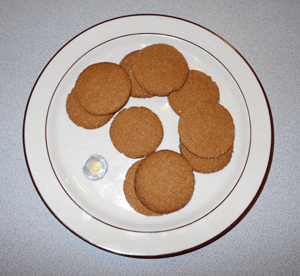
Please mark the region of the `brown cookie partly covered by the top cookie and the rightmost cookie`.
<svg viewBox="0 0 300 276"><path fill-rule="evenodd" d="M170 106L178 115L196 102L219 102L219 99L217 84L210 76L197 70L190 70L183 87L168 96Z"/></svg>

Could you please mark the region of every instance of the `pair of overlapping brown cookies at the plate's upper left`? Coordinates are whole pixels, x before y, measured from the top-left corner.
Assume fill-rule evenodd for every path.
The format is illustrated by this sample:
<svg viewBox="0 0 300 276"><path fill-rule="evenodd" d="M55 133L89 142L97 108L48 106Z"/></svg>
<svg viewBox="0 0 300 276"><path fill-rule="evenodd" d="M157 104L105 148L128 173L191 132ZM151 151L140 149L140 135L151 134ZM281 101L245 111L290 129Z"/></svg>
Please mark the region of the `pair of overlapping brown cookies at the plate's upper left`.
<svg viewBox="0 0 300 276"><path fill-rule="evenodd" d="M99 128L127 103L130 93L130 77L120 65L92 64L82 71L68 95L67 113L78 126Z"/></svg>

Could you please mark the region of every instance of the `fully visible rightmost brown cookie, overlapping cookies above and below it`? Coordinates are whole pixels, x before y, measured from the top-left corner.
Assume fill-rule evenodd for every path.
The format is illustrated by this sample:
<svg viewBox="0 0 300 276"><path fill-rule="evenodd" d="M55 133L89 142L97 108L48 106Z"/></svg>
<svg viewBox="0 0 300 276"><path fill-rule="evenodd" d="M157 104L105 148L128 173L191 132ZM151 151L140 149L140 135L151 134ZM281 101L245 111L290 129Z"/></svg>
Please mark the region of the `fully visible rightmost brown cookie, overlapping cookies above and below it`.
<svg viewBox="0 0 300 276"><path fill-rule="evenodd" d="M234 140L235 128L229 111L219 103L198 102L179 118L180 141L202 158L218 157Z"/></svg>

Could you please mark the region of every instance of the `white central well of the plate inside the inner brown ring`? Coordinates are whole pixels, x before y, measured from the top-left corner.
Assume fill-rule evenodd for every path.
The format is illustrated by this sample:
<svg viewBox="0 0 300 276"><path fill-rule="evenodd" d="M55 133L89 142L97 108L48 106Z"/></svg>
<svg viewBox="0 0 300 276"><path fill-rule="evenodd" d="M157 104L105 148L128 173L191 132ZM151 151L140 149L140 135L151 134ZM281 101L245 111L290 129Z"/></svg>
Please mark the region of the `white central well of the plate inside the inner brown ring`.
<svg viewBox="0 0 300 276"><path fill-rule="evenodd" d="M87 66L103 61L119 63L131 51L153 43L176 47L187 59L190 69L200 69L218 84L220 103L231 113L236 137L230 164L214 174L195 173L196 187L190 203L178 212L161 217L138 214L127 203L123 181L129 167L137 161L119 153L109 137L110 123L87 130L76 126L65 109L66 99L78 75ZM160 149L179 152L178 119L166 97L130 98L124 108L145 106L156 113L164 127ZM128 35L100 44L84 54L66 72L54 91L46 123L49 160L63 189L89 215L130 231L165 231L182 227L205 216L228 196L246 165L250 147L250 121L247 106L230 72L210 53L187 41L165 35ZM105 176L89 180L82 173L84 160L90 155L102 156L108 165Z"/></svg>

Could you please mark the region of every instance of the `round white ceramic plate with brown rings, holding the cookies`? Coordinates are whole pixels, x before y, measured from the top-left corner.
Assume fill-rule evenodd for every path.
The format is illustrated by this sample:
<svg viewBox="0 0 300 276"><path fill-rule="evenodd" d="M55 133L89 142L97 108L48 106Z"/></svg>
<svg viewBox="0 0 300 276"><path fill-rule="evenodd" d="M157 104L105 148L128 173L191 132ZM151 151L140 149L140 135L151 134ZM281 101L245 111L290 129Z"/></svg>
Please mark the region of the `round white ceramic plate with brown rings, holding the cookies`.
<svg viewBox="0 0 300 276"><path fill-rule="evenodd" d="M195 173L186 207L146 217L125 200L123 181L136 161L120 154L109 137L111 121L86 130L70 121L65 103L88 65L119 63L131 51L154 43L176 47L191 69L210 75L220 103L231 113L236 135L229 165ZM166 97L130 98L126 108L146 106L161 119L159 149L179 152L178 119ZM204 246L233 227L261 191L272 151L272 122L264 91L249 64L226 41L178 18L126 16L96 25L67 43L48 63L31 93L24 121L24 147L34 184L45 204L84 240L118 254L169 256ZM105 158L107 174L92 181L82 173L92 154Z"/></svg>

